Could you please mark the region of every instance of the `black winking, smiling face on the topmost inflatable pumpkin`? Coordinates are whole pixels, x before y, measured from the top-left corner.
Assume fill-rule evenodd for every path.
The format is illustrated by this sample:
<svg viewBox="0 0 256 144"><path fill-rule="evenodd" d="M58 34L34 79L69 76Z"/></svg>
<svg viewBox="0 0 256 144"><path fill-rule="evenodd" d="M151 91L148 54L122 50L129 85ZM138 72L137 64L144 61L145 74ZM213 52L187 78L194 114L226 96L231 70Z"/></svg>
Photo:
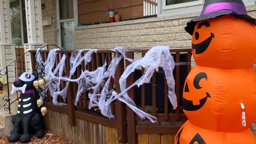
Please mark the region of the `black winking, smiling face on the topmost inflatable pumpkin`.
<svg viewBox="0 0 256 144"><path fill-rule="evenodd" d="M193 35L195 37L196 41L200 41L201 37L200 35L203 35L204 29L210 29L210 23L208 21L203 21L197 26L197 31L195 31L195 34ZM199 33L200 32L200 33ZM203 37L203 36L202 36ZM212 38L214 38L214 34L211 32L210 36L206 39L204 39L202 42L198 44L192 43L192 50L196 51L195 54L203 53L210 45Z"/></svg>

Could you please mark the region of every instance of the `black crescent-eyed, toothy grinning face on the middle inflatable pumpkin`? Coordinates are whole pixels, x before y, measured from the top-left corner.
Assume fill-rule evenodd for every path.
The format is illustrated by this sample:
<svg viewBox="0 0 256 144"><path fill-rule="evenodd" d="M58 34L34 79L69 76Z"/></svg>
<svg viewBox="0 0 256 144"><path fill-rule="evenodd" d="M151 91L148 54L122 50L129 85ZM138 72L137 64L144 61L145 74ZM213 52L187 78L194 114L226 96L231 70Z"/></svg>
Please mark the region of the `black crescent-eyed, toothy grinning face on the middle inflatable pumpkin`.
<svg viewBox="0 0 256 144"><path fill-rule="evenodd" d="M193 80L193 86L195 89L200 90L202 87L199 85L199 82L201 79L205 79L207 81L207 74L205 72L200 72L198 73L194 80ZM186 82L185 84L185 88L184 88L184 92L185 93L189 93L189 87L188 84ZM193 95L193 94L192 94ZM210 98L210 94L209 93L205 93L205 96L199 100L199 104L198 105L194 105L192 100L188 100L186 98L183 97L183 110L185 111L196 111L199 110L200 108L203 107L203 105L205 104L207 98Z"/></svg>

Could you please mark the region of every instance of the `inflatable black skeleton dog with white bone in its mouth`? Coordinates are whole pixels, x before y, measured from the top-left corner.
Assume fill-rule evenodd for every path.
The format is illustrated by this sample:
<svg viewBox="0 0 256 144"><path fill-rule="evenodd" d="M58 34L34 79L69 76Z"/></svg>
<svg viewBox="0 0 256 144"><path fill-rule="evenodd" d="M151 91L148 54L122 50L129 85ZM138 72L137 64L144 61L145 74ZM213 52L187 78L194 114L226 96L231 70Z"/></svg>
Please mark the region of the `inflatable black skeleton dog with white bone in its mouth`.
<svg viewBox="0 0 256 144"><path fill-rule="evenodd" d="M44 137L43 118L37 111L37 104L33 94L35 89L33 82L36 79L35 72L24 72L20 73L20 77L13 82L11 93L14 91L21 92L17 114L12 117L13 130L8 137L11 142L29 142L30 134Z"/></svg>

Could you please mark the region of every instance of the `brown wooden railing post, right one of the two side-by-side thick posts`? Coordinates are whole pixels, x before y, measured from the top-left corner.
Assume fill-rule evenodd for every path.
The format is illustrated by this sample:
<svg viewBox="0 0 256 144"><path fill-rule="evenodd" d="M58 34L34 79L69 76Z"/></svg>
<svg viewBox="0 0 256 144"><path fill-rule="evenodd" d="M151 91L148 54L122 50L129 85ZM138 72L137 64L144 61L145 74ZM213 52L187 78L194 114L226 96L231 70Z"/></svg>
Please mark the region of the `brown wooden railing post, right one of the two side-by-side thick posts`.
<svg viewBox="0 0 256 144"><path fill-rule="evenodd" d="M131 59L134 59L134 53L132 52L128 52L126 54L127 57L131 58ZM125 60L125 65L126 65L126 68L128 65L130 65L131 62L129 62L128 60ZM132 85L134 82L135 82L135 75L134 73L131 73L128 77L127 77L128 81L126 83L127 86L130 86ZM133 99L133 101L135 102L136 100L136 95L135 95L135 88L131 88L129 91L128 91L128 95ZM134 144L137 144L137 134L136 134L136 119L135 119L135 113L133 112L132 109L130 109L128 107L127 109L127 119L128 119L128 140L129 140L129 143L134 143Z"/></svg>

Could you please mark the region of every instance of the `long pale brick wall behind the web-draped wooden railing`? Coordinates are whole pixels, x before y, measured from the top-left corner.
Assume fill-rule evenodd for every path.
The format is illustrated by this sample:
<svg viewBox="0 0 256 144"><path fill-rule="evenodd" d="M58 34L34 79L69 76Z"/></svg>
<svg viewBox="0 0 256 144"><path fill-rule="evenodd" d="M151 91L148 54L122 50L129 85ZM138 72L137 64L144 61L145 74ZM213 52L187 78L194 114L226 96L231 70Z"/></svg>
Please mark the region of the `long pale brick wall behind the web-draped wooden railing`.
<svg viewBox="0 0 256 144"><path fill-rule="evenodd" d="M185 30L191 19L123 21L75 28L76 49L151 48L169 45L170 48L190 48L191 35Z"/></svg>

